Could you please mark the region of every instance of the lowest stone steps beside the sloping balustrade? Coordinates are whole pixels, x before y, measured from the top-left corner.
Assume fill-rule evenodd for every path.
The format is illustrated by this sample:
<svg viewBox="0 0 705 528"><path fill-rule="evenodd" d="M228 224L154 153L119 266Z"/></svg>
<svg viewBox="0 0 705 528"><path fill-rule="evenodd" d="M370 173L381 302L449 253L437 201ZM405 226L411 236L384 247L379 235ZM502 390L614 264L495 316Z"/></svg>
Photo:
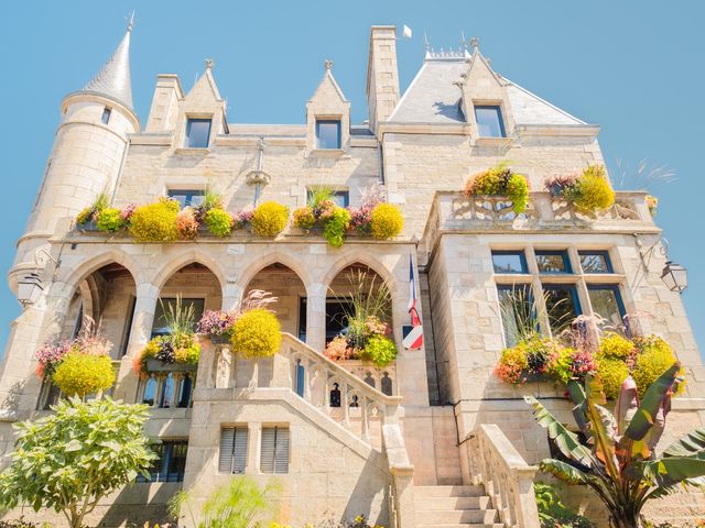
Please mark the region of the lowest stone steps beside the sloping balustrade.
<svg viewBox="0 0 705 528"><path fill-rule="evenodd" d="M501 528L484 486L414 486L417 528Z"/></svg>

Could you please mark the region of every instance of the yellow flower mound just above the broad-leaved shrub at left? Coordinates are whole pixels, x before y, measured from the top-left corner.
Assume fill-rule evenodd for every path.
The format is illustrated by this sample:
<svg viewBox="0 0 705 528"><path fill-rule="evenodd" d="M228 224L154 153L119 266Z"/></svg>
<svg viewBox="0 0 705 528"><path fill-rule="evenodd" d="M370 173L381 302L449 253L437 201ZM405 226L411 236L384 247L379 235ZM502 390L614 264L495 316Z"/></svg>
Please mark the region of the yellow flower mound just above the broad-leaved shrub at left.
<svg viewBox="0 0 705 528"><path fill-rule="evenodd" d="M115 376L109 355L70 352L52 374L52 381L64 394L83 399L89 394L110 388Z"/></svg>

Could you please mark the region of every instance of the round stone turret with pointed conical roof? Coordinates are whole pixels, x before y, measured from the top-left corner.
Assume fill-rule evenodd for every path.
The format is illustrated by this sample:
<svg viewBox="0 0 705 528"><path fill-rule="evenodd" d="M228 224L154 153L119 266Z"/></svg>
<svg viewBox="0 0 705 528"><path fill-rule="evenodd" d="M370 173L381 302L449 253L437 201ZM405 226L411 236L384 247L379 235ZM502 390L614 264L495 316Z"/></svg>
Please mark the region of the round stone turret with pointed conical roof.
<svg viewBox="0 0 705 528"><path fill-rule="evenodd" d="M140 130L132 109L130 35L98 74L82 89L64 97L62 121L46 163L18 255L10 271L10 287L36 267L35 253L47 239L69 226L100 193L111 196L124 161L129 134Z"/></svg>

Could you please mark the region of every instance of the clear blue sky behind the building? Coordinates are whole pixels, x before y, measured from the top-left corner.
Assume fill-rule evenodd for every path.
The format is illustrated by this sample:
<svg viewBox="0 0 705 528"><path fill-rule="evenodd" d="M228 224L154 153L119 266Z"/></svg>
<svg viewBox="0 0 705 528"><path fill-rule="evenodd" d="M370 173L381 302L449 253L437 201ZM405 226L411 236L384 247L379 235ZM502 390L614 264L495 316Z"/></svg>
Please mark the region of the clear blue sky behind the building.
<svg viewBox="0 0 705 528"><path fill-rule="evenodd" d="M502 75L557 107L601 125L600 144L612 175L649 169L676 174L670 184L630 178L661 200L658 221L674 261L688 270L683 298L705 344L705 3L622 0L516 1L70 1L3 6L0 128L4 229L0 268L14 257L59 120L59 101L99 69L137 10L132 89L147 120L156 74L176 73L185 88L213 57L230 122L302 123L305 102L323 74L334 73L367 117L365 80L369 26L408 24L413 38L398 47L402 90L423 58L423 34L435 47L459 45L460 31L480 37L482 53ZM677 7L677 9L676 9ZM618 169L620 166L622 169ZM648 184L648 185L647 185ZM0 340L20 312L0 286Z"/></svg>

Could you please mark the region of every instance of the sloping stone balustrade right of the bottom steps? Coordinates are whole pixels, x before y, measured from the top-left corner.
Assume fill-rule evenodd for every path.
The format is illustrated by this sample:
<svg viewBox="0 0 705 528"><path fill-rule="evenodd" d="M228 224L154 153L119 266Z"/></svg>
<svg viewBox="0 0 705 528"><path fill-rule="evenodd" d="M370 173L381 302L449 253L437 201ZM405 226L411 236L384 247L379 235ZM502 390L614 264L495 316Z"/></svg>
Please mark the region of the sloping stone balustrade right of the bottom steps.
<svg viewBox="0 0 705 528"><path fill-rule="evenodd" d="M529 465L495 424L468 435L468 465L473 484L484 484L506 527L538 528L533 493L536 466Z"/></svg>

